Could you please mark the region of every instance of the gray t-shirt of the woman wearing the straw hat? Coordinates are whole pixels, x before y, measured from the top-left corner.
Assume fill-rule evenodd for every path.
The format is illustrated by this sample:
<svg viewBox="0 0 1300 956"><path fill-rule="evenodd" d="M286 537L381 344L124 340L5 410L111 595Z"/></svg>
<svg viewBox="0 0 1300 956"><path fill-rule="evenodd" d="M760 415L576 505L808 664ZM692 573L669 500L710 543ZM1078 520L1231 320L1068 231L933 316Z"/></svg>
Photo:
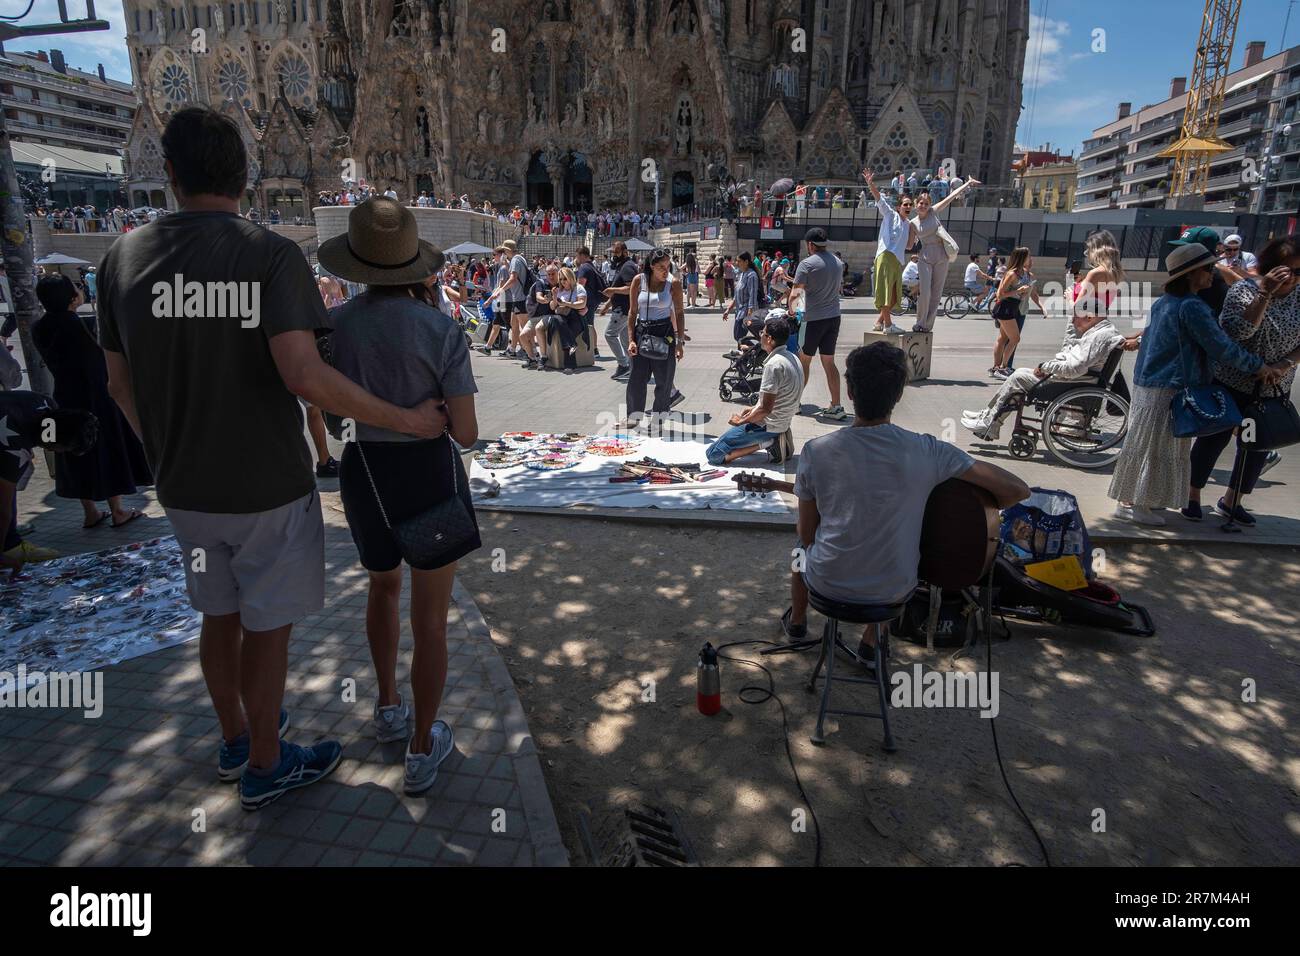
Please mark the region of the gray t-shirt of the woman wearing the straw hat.
<svg viewBox="0 0 1300 956"><path fill-rule="evenodd" d="M329 312L334 367L403 408L478 390L465 336L451 316L408 295L365 293ZM419 438L356 423L359 441Z"/></svg>

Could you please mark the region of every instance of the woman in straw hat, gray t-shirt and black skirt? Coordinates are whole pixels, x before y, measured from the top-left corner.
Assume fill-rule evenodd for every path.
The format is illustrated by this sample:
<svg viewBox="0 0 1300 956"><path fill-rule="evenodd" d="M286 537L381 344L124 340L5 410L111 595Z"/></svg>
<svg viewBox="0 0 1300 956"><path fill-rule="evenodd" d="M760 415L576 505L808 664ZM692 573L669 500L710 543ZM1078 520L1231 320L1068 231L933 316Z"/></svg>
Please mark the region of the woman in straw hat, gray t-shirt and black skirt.
<svg viewBox="0 0 1300 956"><path fill-rule="evenodd" d="M451 727L437 719L447 678L447 606L456 561L481 546L462 447L478 440L469 351L456 323L437 307L426 280L443 255L416 233L415 217L400 203L374 198L348 216L347 233L321 243L321 265L367 286L365 293L330 312L334 365L374 395L398 405L426 398L446 402L448 434L415 440L358 423L343 451L339 490L347 524L370 589L365 631L380 685L374 731L380 741L407 740L406 791L433 786L438 765L454 747ZM412 401L408 401L412 399ZM473 532L437 558L410 557L393 525L437 514L459 496ZM436 531L429 532L437 537ZM439 549L430 549L438 551ZM402 563L411 564L412 710L396 685Z"/></svg>

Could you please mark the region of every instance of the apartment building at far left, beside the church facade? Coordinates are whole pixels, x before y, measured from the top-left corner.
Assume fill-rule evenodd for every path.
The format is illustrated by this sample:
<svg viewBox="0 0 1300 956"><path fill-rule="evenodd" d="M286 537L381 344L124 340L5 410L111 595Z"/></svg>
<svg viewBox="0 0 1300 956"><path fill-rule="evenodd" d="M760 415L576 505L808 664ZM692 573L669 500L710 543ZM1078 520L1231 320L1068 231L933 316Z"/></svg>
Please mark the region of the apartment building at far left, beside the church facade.
<svg viewBox="0 0 1300 956"><path fill-rule="evenodd" d="M0 51L0 107L9 138L121 157L135 118L130 83L72 68L61 51Z"/></svg>

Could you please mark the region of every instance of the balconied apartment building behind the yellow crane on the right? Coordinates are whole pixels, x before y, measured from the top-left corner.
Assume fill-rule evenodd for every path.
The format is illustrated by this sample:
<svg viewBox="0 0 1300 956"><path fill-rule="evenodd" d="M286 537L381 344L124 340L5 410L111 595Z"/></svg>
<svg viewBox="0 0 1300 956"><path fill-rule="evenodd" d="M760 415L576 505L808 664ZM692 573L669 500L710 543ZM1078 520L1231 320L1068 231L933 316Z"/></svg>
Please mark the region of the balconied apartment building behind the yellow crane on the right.
<svg viewBox="0 0 1300 956"><path fill-rule="evenodd" d="M1280 130L1300 105L1300 46L1270 57L1264 56L1264 40L1247 43L1240 69L1227 77L1218 135L1232 148L1210 159L1206 212L1296 208L1300 124L1290 135ZM1083 143L1074 209L1164 207L1174 160L1160 152L1179 138L1186 108L1186 77L1174 77L1169 99L1161 103L1138 111L1131 103L1121 103L1117 118L1093 130ZM1257 176L1265 163L1269 176Z"/></svg>

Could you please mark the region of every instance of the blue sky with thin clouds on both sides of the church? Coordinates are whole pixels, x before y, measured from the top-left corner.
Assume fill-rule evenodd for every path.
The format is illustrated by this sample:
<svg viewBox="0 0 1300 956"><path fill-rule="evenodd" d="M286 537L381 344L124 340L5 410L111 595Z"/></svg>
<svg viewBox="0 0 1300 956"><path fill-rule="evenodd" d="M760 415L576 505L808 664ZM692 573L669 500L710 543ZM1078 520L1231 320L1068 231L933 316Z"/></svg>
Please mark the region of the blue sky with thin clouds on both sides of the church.
<svg viewBox="0 0 1300 956"><path fill-rule="evenodd" d="M1266 40L1266 55L1280 49L1290 0L1244 0L1232 52L1242 64L1249 40ZM0 13L17 16L26 0L0 0ZM1191 75L1201 26L1201 0L1030 0L1030 46L1024 61L1024 109L1017 142L1052 143L1065 152L1115 117L1122 100L1134 109L1169 96L1171 77ZM35 0L23 23L56 22L56 0ZM84 16L86 0L68 0L69 14ZM34 42L10 40L14 52L57 47L69 65L130 82L120 0L99 0L99 17L112 30ZM1300 44L1300 3L1292 8L1287 43ZM1092 52L1093 31L1105 31L1105 52Z"/></svg>

